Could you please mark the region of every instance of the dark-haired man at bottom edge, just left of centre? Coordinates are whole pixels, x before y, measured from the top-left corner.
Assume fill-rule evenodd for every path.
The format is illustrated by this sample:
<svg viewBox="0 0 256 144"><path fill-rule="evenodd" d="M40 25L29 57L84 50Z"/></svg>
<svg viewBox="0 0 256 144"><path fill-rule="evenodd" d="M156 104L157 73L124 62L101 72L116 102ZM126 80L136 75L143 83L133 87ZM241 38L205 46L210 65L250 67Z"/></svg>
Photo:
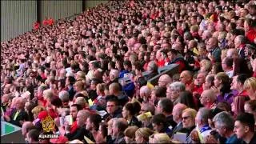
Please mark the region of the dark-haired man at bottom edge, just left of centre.
<svg viewBox="0 0 256 144"><path fill-rule="evenodd" d="M124 118L118 118L113 122L112 131L114 143L126 143L123 132L128 127L128 122Z"/></svg>

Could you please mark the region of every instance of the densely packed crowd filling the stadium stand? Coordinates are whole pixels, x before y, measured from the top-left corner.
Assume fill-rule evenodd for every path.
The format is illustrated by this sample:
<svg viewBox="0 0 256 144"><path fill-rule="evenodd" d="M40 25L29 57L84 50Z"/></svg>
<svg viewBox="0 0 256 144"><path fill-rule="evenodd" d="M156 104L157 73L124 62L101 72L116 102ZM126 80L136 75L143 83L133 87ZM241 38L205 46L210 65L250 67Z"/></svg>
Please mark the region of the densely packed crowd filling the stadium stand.
<svg viewBox="0 0 256 144"><path fill-rule="evenodd" d="M110 1L1 43L2 120L29 143L256 143L255 43L255 1Z"/></svg>

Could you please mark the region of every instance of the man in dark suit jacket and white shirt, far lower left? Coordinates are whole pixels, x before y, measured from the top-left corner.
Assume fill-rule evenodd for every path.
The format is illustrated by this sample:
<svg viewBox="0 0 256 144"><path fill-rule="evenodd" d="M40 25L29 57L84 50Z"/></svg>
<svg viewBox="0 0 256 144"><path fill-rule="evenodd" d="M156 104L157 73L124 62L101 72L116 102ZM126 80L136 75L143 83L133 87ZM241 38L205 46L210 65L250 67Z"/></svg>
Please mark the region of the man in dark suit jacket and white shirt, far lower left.
<svg viewBox="0 0 256 144"><path fill-rule="evenodd" d="M14 110L12 114L10 114L10 116L4 115L4 118L6 122L10 122L15 126L22 127L23 122L28 121L28 114L24 110L24 106L25 106L24 99L21 97L17 98L15 102L15 106L16 106L16 110Z"/></svg>

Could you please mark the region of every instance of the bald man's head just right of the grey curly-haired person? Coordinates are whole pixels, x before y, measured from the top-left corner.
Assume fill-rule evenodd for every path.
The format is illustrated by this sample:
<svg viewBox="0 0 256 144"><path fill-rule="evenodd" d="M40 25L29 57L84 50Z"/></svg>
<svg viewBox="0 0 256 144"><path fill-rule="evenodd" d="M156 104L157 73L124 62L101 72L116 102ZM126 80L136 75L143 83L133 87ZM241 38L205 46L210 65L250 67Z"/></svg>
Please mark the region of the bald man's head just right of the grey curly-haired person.
<svg viewBox="0 0 256 144"><path fill-rule="evenodd" d="M209 109L214 109L216 99L217 99L217 96L214 93L214 90L211 90L211 89L203 90L200 97L200 102L203 106Z"/></svg>

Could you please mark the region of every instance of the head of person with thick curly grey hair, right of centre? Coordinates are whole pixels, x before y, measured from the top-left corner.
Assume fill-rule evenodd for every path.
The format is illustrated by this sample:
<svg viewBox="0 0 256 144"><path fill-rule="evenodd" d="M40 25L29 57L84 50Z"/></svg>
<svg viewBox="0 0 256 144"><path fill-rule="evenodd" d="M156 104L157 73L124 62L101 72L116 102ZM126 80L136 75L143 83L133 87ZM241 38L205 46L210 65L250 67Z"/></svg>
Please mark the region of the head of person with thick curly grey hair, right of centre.
<svg viewBox="0 0 256 144"><path fill-rule="evenodd" d="M166 90L166 98L169 98L171 102L176 105L179 102L179 94L186 90L186 86L182 82L174 82L168 86Z"/></svg>

